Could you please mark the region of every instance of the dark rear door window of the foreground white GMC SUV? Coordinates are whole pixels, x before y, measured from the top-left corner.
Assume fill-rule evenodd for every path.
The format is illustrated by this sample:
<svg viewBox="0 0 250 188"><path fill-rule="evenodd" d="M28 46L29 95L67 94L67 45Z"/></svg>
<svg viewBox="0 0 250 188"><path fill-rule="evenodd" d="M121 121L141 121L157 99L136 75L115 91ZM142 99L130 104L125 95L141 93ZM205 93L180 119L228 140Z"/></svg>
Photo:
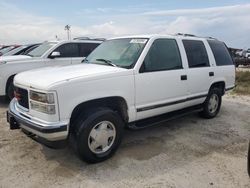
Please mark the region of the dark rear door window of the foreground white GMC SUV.
<svg viewBox="0 0 250 188"><path fill-rule="evenodd" d="M190 68L209 66L207 51L202 41L183 40L183 44Z"/></svg>

